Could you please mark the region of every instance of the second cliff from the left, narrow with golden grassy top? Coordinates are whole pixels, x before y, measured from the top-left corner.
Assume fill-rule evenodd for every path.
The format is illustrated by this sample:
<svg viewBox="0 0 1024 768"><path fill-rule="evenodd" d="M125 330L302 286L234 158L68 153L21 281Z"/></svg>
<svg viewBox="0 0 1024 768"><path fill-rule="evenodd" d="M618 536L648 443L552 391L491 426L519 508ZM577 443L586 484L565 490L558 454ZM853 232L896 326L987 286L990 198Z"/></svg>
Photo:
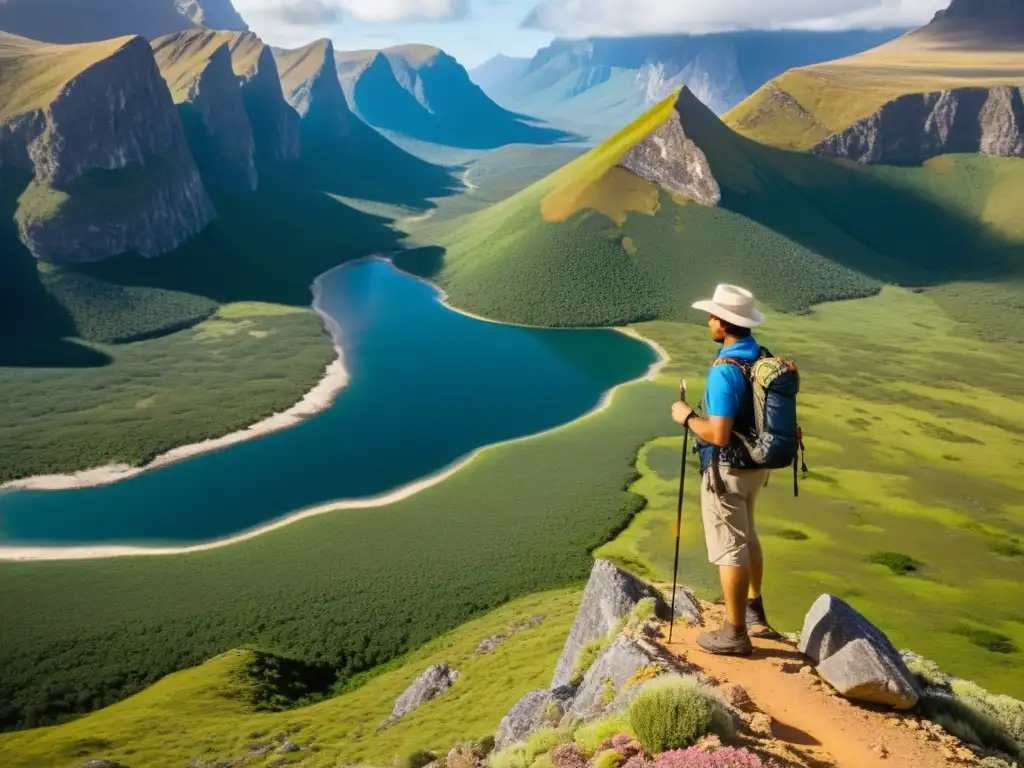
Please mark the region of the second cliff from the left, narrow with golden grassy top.
<svg viewBox="0 0 1024 768"><path fill-rule="evenodd" d="M200 168L226 188L256 188L255 142L226 40L208 30L154 42ZM208 51L212 51L208 53Z"/></svg>

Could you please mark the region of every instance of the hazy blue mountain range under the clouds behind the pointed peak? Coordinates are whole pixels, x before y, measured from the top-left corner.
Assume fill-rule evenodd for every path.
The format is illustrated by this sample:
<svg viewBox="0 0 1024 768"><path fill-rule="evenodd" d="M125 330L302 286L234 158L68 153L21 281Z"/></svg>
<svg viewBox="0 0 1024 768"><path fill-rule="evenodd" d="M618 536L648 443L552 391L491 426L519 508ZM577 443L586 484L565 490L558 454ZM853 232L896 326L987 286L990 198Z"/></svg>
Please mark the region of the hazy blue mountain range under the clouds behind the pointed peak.
<svg viewBox="0 0 1024 768"><path fill-rule="evenodd" d="M556 40L532 58L495 56L470 76L508 110L599 137L684 85L723 114L786 70L857 53L904 32L754 31Z"/></svg>

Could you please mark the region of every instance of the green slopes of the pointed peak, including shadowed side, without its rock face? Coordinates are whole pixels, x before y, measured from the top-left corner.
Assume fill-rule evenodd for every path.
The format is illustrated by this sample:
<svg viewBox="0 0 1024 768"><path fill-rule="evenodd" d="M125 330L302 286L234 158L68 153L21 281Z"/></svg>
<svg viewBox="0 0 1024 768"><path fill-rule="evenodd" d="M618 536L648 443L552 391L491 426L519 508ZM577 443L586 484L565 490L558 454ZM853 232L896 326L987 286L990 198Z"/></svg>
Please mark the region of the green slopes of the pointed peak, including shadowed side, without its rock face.
<svg viewBox="0 0 1024 768"><path fill-rule="evenodd" d="M499 205L414 224L429 247L401 264L471 311L556 326L689 318L690 303L721 281L805 311L884 283L1020 280L1012 209L1024 164L957 158L928 172L865 169L758 144L692 97L680 110L723 187L719 208L680 204L613 167L671 111L666 102ZM972 183L955 188L957 178ZM1002 194L1010 200L996 202Z"/></svg>

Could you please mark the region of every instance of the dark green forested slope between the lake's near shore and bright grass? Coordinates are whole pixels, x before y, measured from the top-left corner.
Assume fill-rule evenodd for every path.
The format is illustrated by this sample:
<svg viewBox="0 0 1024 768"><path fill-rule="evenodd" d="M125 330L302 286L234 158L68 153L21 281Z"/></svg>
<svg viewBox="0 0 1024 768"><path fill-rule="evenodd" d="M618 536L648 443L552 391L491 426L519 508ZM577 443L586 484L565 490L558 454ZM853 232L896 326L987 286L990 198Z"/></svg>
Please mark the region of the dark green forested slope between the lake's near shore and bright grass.
<svg viewBox="0 0 1024 768"><path fill-rule="evenodd" d="M219 550L0 564L0 724L89 711L246 643L347 675L578 583L636 511L632 458L671 399L665 386L627 387L613 408L488 450L398 504Z"/></svg>

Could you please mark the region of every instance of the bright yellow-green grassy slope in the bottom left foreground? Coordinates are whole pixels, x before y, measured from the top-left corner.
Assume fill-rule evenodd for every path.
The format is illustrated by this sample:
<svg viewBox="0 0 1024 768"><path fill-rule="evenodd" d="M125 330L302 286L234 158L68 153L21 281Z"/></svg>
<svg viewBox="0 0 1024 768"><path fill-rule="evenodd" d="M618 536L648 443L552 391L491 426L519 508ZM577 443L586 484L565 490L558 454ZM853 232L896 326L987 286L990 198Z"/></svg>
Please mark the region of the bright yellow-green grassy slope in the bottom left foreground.
<svg viewBox="0 0 1024 768"><path fill-rule="evenodd" d="M352 692L279 713L253 711L250 702L258 693L247 674L252 655L228 651L74 723L0 735L0 760L7 768L72 768L104 757L177 768L193 758L212 762L246 755L251 744L268 743L284 732L304 748L308 766L383 765L418 749L443 754L460 741L494 734L523 693L548 684L578 604L579 593L571 591L516 600L410 653ZM544 616L539 627L513 634L494 653L474 655L480 640L535 615ZM459 670L455 687L378 732L413 679L441 662ZM247 765L279 757L270 752Z"/></svg>

